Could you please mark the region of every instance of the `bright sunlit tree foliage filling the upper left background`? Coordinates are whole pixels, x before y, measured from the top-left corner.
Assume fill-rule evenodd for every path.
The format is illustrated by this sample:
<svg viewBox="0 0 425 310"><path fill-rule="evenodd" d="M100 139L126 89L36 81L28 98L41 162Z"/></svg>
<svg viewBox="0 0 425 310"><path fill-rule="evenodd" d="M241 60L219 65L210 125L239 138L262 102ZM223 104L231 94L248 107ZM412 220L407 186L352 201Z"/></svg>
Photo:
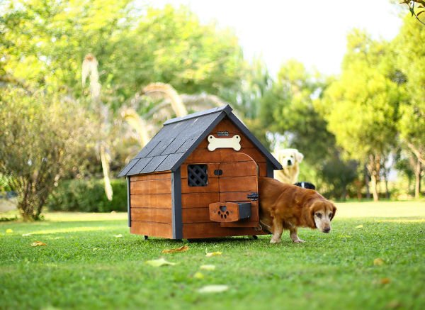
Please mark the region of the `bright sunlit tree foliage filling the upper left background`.
<svg viewBox="0 0 425 310"><path fill-rule="evenodd" d="M118 109L149 82L178 92L237 89L244 66L237 37L201 25L185 7L137 1L11 1L0 13L0 70L26 84L81 88L81 62L99 62L102 101Z"/></svg>

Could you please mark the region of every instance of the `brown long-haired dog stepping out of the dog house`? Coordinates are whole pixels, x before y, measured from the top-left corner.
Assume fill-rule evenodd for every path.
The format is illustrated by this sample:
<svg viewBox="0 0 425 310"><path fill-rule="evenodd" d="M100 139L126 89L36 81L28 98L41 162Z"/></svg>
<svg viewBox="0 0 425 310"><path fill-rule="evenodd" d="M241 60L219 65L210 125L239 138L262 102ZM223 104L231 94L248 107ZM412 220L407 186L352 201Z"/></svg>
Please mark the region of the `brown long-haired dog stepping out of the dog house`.
<svg viewBox="0 0 425 310"><path fill-rule="evenodd" d="M271 243L280 242L283 229L289 229L295 243L304 242L298 238L298 227L319 228L324 233L331 231L336 207L314 190L260 177L259 192L260 223L273 233Z"/></svg>

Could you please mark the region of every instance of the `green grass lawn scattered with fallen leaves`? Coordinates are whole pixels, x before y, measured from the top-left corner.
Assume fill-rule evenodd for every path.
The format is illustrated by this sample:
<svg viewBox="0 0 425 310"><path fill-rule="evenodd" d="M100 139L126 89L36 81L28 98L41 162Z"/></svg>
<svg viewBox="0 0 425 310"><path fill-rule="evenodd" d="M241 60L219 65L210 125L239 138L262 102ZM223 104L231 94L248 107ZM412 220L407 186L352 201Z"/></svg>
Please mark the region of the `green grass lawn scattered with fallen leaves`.
<svg viewBox="0 0 425 310"><path fill-rule="evenodd" d="M425 309L425 203L337 206L331 233L301 229L302 244L286 232L279 245L270 236L145 241L125 214L0 223L0 309ZM162 254L183 244L187 252ZM161 257L177 264L145 263ZM229 289L198 292L208 284Z"/></svg>

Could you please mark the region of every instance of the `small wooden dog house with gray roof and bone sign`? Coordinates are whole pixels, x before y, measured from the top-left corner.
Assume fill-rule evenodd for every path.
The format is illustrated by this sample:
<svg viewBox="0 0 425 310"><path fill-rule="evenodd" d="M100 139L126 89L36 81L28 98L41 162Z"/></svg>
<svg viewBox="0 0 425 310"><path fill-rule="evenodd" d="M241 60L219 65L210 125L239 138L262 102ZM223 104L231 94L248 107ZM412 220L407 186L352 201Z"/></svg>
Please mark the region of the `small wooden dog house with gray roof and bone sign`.
<svg viewBox="0 0 425 310"><path fill-rule="evenodd" d="M260 234L258 177L280 169L229 105L173 118L120 172L127 177L130 233Z"/></svg>

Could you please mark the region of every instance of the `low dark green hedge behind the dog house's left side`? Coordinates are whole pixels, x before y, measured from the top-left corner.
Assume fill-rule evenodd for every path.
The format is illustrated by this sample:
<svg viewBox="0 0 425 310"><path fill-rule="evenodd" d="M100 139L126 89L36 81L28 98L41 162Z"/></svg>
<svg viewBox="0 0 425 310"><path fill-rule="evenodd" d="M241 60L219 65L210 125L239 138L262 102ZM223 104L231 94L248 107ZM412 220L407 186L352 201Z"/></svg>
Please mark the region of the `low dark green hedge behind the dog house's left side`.
<svg viewBox="0 0 425 310"><path fill-rule="evenodd" d="M108 201L103 179L63 181L47 199L50 211L111 212L127 211L125 179L111 180L113 199Z"/></svg>

